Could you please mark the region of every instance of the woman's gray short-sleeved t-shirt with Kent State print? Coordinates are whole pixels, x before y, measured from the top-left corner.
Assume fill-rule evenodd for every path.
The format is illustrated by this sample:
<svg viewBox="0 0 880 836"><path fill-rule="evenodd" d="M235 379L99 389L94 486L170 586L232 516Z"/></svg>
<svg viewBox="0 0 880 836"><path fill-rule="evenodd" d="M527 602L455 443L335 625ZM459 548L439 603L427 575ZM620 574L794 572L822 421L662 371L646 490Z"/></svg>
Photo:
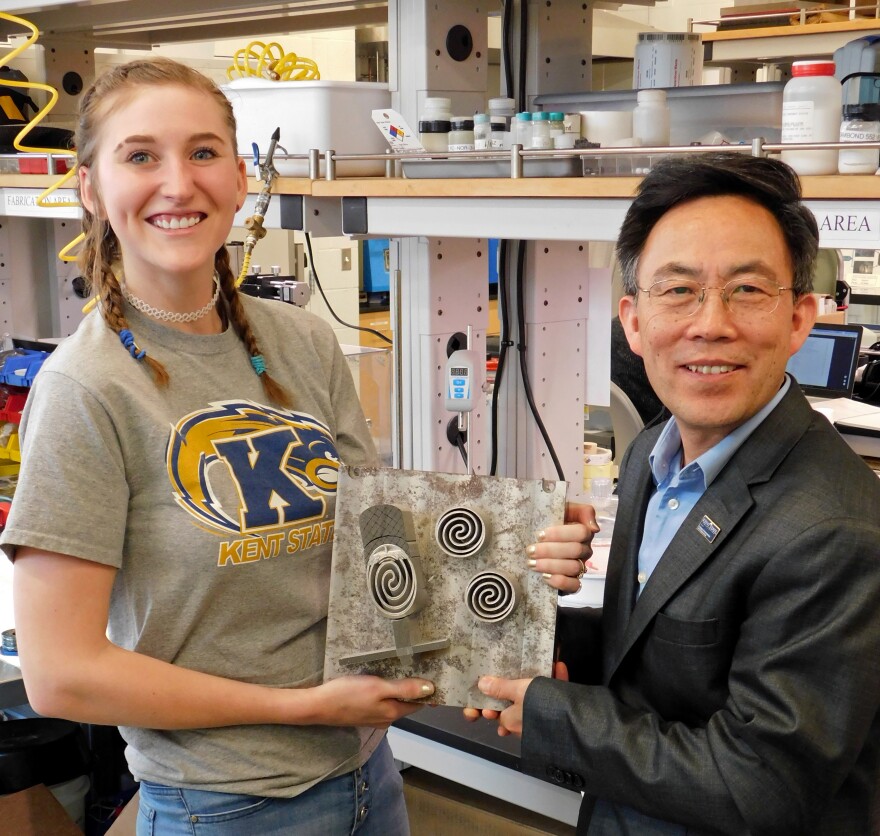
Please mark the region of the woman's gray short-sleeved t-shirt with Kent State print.
<svg viewBox="0 0 880 836"><path fill-rule="evenodd" d="M374 450L330 327L244 297L272 376L267 405L228 329L165 328L127 309L162 362L159 389L96 314L40 371L22 419L23 464L0 538L115 566L116 644L218 676L295 688L322 677L338 463ZM293 796L360 766L374 729L120 729L135 778Z"/></svg>

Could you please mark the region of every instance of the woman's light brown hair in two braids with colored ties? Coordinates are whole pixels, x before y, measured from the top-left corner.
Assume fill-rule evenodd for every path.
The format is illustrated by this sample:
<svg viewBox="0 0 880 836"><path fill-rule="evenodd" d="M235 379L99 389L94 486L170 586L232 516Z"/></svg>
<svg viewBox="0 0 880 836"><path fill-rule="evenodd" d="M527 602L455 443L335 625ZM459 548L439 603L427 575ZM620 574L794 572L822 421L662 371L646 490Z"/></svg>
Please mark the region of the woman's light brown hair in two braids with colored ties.
<svg viewBox="0 0 880 836"><path fill-rule="evenodd" d="M213 97L221 109L236 146L235 116L232 105L223 92L207 76L186 64L168 58L137 59L121 64L99 75L83 94L76 126L75 147L77 164L95 171L100 143L101 123L123 104L125 91L137 86L178 85L197 90ZM95 183L96 200L100 202L98 181ZM77 183L79 190L79 183ZM82 202L82 201L80 201ZM144 363L150 370L157 386L168 385L169 376L165 367L138 346L125 317L125 301L114 265L121 263L122 252L116 233L104 217L90 212L83 206L82 215L83 245L79 251L79 265L82 275L98 300L102 318L117 335L124 350L137 362ZM235 287L235 276L229 266L229 253L221 247L214 255L214 265L220 280L222 313L244 343L254 372L259 375L266 396L280 406L290 406L291 400L284 388L266 371L265 361L260 352L257 338L251 329L244 306Z"/></svg>

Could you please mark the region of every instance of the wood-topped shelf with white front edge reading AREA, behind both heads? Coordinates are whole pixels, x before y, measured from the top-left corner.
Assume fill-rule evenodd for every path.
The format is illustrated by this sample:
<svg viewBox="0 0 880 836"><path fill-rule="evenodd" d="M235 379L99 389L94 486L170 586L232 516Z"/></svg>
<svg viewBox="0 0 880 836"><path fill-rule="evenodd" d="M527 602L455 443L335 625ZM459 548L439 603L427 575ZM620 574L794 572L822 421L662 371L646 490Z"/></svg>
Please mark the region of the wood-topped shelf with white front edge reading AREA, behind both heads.
<svg viewBox="0 0 880 836"><path fill-rule="evenodd" d="M55 179L0 175L0 211L45 218L78 214L70 207L36 206L35 195ZM640 179L281 177L273 185L265 226L317 235L614 241ZM880 178L828 175L802 177L801 183L819 219L823 246L880 249ZM261 187L249 180L236 225L252 213ZM73 190L55 194L59 200L74 196ZM315 225L318 216L323 227Z"/></svg>

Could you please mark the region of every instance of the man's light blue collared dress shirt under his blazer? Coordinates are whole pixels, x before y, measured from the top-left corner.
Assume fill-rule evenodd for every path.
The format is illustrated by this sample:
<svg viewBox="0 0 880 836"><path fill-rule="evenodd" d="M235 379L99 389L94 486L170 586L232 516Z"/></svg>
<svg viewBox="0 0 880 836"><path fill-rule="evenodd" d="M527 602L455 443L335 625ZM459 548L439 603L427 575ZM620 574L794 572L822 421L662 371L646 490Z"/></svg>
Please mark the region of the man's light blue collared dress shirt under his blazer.
<svg viewBox="0 0 880 836"><path fill-rule="evenodd" d="M779 391L763 409L685 468L681 466L681 434L678 424L675 418L670 418L666 423L648 457L657 487L648 502L645 530L639 546L639 595L660 562L663 552L706 488L745 440L776 408L790 385L791 378L786 375Z"/></svg>

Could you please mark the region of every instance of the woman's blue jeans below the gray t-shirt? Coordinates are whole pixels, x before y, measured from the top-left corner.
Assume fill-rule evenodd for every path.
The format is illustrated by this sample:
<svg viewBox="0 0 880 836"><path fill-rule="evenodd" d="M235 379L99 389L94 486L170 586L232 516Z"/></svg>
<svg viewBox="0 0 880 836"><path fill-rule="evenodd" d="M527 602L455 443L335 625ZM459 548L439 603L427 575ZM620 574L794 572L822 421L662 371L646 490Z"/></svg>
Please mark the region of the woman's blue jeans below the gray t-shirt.
<svg viewBox="0 0 880 836"><path fill-rule="evenodd" d="M141 782L137 836L409 836L403 781L387 740L354 772L295 798Z"/></svg>

